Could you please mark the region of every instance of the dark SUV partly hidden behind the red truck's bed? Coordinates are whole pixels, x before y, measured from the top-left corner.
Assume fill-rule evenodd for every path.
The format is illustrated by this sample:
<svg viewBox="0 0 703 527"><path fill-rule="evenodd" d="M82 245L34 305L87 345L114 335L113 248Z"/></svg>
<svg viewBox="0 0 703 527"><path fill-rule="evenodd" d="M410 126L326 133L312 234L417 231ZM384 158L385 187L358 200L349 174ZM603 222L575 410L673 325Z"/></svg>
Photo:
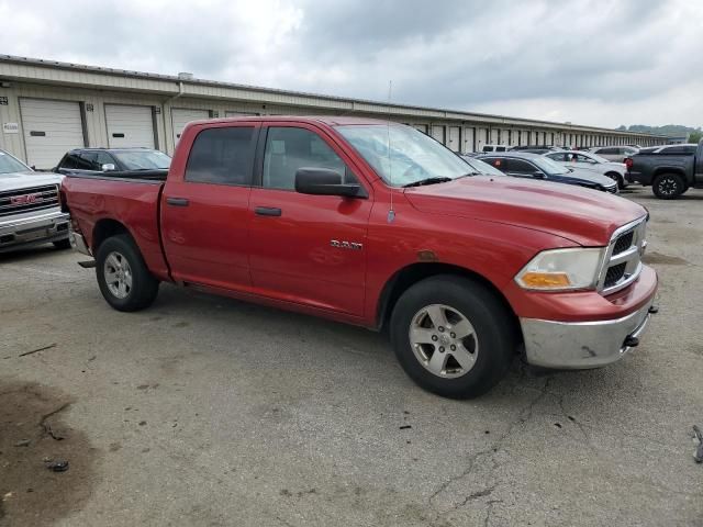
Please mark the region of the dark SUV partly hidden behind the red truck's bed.
<svg viewBox="0 0 703 527"><path fill-rule="evenodd" d="M171 158L153 148L76 148L68 152L54 171L111 172L127 170L168 170Z"/></svg>

